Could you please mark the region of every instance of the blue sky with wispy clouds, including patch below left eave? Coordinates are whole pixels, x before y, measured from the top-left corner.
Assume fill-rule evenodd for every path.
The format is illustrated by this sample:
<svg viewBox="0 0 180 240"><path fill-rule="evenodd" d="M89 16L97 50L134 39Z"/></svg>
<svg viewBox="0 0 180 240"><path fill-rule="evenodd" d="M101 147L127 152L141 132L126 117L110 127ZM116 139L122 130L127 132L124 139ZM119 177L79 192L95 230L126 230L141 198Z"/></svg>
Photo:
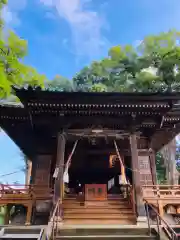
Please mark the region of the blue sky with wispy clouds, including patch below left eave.
<svg viewBox="0 0 180 240"><path fill-rule="evenodd" d="M180 0L9 0L3 17L7 28L28 41L25 62L52 79L71 78L111 46L179 30L179 13ZM0 175L19 169L18 148L2 133L0 144ZM22 173L6 180L23 179Z"/></svg>

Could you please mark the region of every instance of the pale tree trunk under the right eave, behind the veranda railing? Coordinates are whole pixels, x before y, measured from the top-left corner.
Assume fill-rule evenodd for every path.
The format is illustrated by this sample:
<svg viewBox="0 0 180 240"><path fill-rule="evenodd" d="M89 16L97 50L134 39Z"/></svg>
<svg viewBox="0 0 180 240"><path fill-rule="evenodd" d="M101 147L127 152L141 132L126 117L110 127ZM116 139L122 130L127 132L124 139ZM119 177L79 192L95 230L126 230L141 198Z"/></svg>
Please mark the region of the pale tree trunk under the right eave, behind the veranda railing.
<svg viewBox="0 0 180 240"><path fill-rule="evenodd" d="M161 149L164 164L166 166L166 177L169 185L178 184L178 171L176 169L176 138Z"/></svg>

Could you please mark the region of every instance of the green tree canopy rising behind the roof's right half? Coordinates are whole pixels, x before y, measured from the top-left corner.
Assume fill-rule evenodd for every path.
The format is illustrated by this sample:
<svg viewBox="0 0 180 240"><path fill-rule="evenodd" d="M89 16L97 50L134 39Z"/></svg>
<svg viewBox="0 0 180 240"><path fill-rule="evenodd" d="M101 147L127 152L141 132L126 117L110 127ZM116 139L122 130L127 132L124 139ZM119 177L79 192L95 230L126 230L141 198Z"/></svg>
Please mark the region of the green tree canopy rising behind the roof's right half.
<svg viewBox="0 0 180 240"><path fill-rule="evenodd" d="M73 78L79 91L157 92L180 89L180 33L145 37L137 46L114 46L108 56Z"/></svg>

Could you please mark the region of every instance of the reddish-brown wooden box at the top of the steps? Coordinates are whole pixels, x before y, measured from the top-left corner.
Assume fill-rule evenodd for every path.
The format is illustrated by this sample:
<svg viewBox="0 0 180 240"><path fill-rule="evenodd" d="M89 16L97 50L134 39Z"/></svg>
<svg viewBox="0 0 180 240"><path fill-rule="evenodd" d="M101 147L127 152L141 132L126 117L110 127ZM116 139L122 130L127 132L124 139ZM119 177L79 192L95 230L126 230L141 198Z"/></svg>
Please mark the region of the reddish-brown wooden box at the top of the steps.
<svg viewBox="0 0 180 240"><path fill-rule="evenodd" d="M86 201L103 201L107 199L106 184L86 184L85 200Z"/></svg>

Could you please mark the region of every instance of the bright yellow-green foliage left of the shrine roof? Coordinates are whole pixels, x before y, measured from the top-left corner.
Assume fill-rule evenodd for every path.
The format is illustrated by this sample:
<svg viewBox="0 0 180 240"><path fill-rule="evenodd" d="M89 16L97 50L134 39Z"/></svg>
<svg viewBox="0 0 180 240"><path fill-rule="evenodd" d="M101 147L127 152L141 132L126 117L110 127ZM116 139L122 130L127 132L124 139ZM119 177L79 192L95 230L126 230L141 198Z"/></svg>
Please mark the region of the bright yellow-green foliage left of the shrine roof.
<svg viewBox="0 0 180 240"><path fill-rule="evenodd" d="M0 11L7 4L0 0ZM23 63L27 55L27 41L13 31L4 34L3 19L0 18L0 98L13 94L12 86L44 86L45 76Z"/></svg>

